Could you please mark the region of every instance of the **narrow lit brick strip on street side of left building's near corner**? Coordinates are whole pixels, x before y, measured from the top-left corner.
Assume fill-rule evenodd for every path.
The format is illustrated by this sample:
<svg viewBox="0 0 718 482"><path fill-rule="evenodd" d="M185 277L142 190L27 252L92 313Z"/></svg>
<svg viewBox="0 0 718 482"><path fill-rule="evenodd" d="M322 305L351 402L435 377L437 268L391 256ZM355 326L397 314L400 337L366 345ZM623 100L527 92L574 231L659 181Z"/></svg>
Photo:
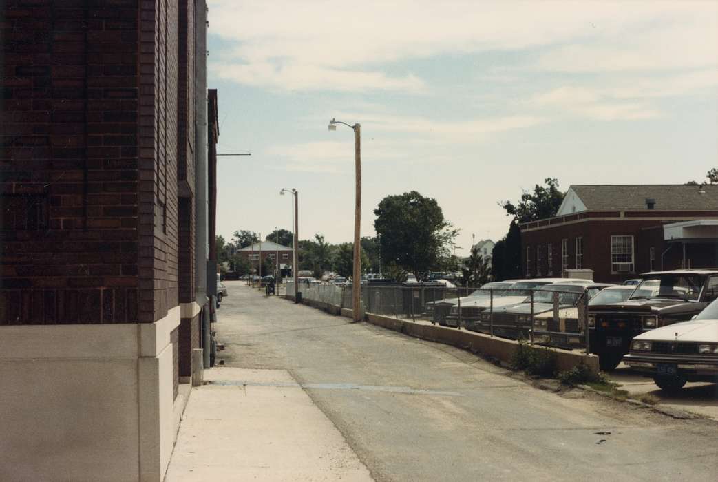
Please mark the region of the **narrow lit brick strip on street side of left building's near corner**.
<svg viewBox="0 0 718 482"><path fill-rule="evenodd" d="M177 305L177 2L141 0L139 321Z"/></svg>

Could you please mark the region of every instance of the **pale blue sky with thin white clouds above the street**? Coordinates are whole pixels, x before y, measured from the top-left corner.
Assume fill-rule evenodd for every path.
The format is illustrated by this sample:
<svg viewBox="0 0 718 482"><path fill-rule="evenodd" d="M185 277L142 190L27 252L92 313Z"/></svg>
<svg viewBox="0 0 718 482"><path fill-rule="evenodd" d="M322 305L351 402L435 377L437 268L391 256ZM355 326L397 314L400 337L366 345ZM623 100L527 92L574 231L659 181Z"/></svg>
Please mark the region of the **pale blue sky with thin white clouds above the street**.
<svg viewBox="0 0 718 482"><path fill-rule="evenodd" d="M673 184L718 166L718 2L208 0L217 232L351 241L386 195L435 198L457 254L546 177Z"/></svg>

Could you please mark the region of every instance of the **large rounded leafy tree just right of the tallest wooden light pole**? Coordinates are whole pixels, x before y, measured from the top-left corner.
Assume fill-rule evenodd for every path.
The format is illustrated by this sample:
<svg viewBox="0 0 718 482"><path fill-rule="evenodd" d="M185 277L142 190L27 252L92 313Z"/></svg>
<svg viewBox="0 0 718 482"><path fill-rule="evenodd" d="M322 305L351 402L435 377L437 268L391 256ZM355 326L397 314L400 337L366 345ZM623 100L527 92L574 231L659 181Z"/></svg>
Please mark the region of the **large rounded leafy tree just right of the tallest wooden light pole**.
<svg viewBox="0 0 718 482"><path fill-rule="evenodd" d="M414 274L429 271L448 256L458 234L437 201L416 191L386 196L374 214L384 263L393 262Z"/></svg>

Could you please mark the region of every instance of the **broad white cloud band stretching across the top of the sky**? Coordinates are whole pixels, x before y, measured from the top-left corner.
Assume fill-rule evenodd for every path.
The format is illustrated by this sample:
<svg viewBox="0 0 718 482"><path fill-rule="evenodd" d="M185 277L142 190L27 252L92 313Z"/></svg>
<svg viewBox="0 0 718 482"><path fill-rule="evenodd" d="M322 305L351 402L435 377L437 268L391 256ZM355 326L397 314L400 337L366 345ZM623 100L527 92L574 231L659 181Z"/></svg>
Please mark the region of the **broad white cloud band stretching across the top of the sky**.
<svg viewBox="0 0 718 482"><path fill-rule="evenodd" d="M718 63L713 2L210 0L210 34L234 47L213 64L248 85L419 92L386 62L538 49L531 68L624 72Z"/></svg>

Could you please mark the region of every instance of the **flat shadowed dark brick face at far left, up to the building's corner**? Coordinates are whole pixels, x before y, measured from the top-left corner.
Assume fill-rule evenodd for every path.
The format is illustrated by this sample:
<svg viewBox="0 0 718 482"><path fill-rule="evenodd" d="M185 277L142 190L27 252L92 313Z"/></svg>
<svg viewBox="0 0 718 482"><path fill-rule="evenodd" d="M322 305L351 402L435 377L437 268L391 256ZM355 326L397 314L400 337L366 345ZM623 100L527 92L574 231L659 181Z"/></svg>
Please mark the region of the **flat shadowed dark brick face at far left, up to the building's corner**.
<svg viewBox="0 0 718 482"><path fill-rule="evenodd" d="M137 313L137 5L4 2L0 324Z"/></svg>

